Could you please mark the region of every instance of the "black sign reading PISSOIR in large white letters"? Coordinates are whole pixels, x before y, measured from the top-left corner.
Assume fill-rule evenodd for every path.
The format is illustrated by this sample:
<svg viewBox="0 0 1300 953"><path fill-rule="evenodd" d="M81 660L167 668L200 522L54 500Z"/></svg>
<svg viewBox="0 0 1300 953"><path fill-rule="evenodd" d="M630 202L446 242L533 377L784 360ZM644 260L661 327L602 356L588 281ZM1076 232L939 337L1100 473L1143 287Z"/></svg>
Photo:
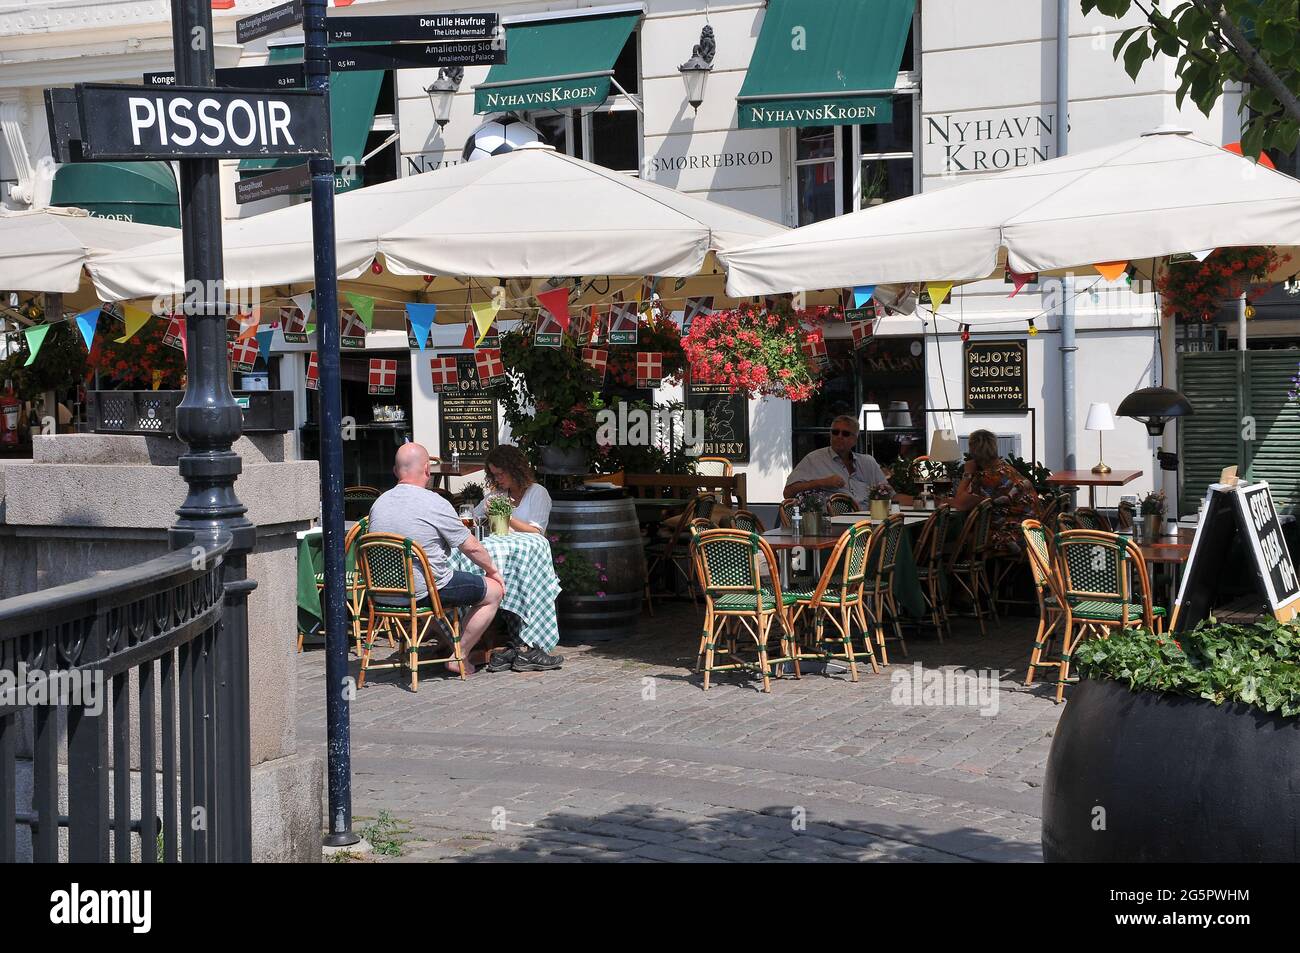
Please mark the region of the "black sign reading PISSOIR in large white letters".
<svg viewBox="0 0 1300 953"><path fill-rule="evenodd" d="M86 160L329 153L320 92L81 83L77 101Z"/></svg>

